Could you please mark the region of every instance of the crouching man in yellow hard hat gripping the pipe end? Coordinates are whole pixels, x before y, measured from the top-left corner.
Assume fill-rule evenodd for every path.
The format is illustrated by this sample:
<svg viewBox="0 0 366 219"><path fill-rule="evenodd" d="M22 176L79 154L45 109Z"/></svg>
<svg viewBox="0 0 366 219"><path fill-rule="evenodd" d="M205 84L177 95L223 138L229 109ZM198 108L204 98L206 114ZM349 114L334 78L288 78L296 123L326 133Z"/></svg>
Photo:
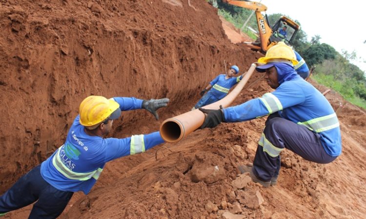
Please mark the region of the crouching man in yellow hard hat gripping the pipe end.
<svg viewBox="0 0 366 219"><path fill-rule="evenodd" d="M239 166L242 173L250 173L253 182L268 187L277 183L284 148L305 160L327 164L341 154L342 143L337 115L325 96L295 72L293 65L298 62L289 46L279 42L258 62L264 65L257 71L266 72L265 79L275 91L223 110L200 108L207 113L201 128L269 115L253 167Z"/></svg>

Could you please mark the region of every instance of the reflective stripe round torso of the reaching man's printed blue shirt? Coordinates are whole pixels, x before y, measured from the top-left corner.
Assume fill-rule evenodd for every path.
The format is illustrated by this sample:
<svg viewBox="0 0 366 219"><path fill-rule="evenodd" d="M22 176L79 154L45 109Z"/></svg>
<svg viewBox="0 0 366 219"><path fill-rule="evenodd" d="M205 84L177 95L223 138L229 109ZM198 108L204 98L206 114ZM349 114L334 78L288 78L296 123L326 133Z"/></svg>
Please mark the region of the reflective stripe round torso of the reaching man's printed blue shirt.
<svg viewBox="0 0 366 219"><path fill-rule="evenodd" d="M53 156L52 164L55 166L55 168L66 178L70 180L80 180L80 181L86 181L91 179L92 177L96 180L99 179L99 176L101 175L103 169L98 168L97 170L86 172L86 173L78 173L70 170L67 168L61 161L60 153L64 153L62 146L57 150L57 153L55 156ZM62 154L63 155L63 154Z"/></svg>

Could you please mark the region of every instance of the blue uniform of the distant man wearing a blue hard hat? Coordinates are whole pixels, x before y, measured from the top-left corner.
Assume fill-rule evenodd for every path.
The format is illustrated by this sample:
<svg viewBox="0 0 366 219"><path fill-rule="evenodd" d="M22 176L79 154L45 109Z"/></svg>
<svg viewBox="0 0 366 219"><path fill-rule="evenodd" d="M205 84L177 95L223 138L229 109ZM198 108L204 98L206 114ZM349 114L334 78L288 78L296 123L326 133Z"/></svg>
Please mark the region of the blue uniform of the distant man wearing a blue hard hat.
<svg viewBox="0 0 366 219"><path fill-rule="evenodd" d="M239 77L230 77L227 79L225 77L225 74L220 74L210 82L212 88L198 101L198 103L194 106L195 109L223 99L230 89L242 80L243 75Z"/></svg>

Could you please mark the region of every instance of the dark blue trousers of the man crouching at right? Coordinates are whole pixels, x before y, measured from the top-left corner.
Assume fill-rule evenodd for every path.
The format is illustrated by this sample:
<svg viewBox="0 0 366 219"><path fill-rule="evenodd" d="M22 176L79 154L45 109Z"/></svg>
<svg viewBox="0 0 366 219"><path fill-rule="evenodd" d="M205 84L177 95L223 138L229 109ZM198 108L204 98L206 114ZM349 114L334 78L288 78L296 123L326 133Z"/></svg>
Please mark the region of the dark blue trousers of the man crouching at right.
<svg viewBox="0 0 366 219"><path fill-rule="evenodd" d="M263 133L273 146L287 148L305 160L327 164L337 158L325 152L318 133L281 118L277 113L268 117ZM263 146L258 145L253 162L253 173L265 182L277 178L281 167L280 159L280 156L273 157L264 151Z"/></svg>

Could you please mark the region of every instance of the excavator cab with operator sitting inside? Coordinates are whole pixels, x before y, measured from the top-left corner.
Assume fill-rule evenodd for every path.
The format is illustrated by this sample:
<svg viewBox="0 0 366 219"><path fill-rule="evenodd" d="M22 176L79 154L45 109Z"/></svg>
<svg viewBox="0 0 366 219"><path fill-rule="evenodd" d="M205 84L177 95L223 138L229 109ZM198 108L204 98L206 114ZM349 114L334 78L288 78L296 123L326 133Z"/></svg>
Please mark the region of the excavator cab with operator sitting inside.
<svg viewBox="0 0 366 219"><path fill-rule="evenodd" d="M286 16L281 16L272 26L272 35L269 37L270 44L276 44L279 41L284 41L286 44L291 44L296 33L300 30L300 25L295 23Z"/></svg>

